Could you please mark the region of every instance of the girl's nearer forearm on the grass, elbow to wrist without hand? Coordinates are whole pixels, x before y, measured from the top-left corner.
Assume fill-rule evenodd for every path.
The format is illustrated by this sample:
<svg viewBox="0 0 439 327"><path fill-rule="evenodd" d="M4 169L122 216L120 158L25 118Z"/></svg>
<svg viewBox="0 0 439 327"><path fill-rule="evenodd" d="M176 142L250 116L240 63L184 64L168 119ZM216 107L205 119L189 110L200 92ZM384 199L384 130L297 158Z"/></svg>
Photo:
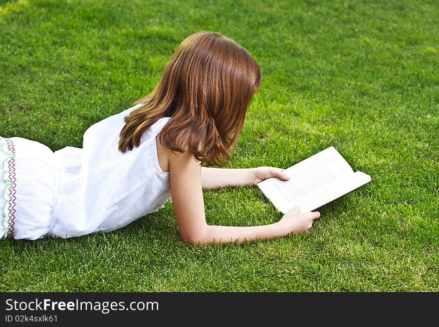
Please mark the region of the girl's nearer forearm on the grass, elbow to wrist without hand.
<svg viewBox="0 0 439 327"><path fill-rule="evenodd" d="M245 241L267 240L286 236L287 234L287 229L282 228L280 221L268 225L248 227L206 225L200 239L192 241L199 245L234 242L242 244Z"/></svg>

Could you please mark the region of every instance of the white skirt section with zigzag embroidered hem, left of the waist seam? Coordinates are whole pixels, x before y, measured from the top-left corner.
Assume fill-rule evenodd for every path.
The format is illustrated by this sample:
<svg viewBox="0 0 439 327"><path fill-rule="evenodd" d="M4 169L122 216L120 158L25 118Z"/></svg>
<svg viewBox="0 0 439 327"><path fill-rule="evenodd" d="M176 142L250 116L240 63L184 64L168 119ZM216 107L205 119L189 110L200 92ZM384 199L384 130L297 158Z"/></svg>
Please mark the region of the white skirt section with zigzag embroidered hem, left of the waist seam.
<svg viewBox="0 0 439 327"><path fill-rule="evenodd" d="M57 165L45 145L0 136L0 236L37 239L50 231Z"/></svg>

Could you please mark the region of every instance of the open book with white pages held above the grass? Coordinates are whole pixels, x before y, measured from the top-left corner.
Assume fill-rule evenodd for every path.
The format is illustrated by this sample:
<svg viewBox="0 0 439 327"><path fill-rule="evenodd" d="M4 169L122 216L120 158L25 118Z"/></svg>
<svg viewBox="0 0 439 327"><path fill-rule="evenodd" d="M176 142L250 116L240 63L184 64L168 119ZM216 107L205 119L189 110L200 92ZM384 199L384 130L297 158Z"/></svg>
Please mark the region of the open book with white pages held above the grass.
<svg viewBox="0 0 439 327"><path fill-rule="evenodd" d="M313 211L372 181L361 171L354 173L331 146L283 171L291 179L276 177L256 184L274 207L286 213L292 207Z"/></svg>

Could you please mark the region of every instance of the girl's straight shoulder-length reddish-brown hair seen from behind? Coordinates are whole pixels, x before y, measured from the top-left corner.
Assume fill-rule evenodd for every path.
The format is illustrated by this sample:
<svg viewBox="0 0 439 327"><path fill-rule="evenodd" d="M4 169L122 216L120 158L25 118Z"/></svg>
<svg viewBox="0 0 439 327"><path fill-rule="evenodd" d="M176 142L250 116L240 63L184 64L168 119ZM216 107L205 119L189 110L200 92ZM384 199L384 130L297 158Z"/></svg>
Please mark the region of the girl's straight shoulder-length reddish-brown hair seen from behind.
<svg viewBox="0 0 439 327"><path fill-rule="evenodd" d="M259 66L242 46L219 33L192 34L177 48L157 87L125 117L119 150L139 146L152 124L170 116L159 134L164 146L222 165L260 82Z"/></svg>

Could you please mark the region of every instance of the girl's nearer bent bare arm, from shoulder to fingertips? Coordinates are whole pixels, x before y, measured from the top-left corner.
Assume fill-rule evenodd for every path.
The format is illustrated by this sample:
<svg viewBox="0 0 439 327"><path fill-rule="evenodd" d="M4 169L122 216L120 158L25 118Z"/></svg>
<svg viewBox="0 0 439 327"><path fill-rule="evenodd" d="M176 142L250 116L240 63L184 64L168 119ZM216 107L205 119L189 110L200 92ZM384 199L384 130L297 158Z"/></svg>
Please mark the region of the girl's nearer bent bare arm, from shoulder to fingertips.
<svg viewBox="0 0 439 327"><path fill-rule="evenodd" d="M319 213L291 209L276 223L261 226L208 225L205 217L201 165L189 151L168 152L172 203L181 238L199 245L266 240L307 231Z"/></svg>

